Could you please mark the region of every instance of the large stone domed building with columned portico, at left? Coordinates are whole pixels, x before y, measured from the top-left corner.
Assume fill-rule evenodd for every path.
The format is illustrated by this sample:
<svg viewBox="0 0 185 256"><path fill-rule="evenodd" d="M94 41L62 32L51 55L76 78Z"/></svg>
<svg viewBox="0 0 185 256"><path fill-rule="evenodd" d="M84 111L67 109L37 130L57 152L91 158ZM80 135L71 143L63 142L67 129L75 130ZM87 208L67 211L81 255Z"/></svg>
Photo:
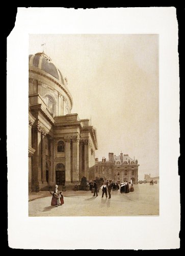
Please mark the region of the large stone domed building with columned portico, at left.
<svg viewBox="0 0 185 256"><path fill-rule="evenodd" d="M29 55L29 191L73 187L95 165L96 129L71 113L67 79L44 52Z"/></svg>

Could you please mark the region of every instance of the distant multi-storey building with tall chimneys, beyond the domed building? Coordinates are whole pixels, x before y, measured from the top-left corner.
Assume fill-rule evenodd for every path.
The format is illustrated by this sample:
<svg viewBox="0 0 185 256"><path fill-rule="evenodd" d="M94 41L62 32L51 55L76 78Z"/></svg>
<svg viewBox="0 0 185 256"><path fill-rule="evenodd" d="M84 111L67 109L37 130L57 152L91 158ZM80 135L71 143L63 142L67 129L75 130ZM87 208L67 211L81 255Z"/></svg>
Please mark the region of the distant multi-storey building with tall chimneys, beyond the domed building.
<svg viewBox="0 0 185 256"><path fill-rule="evenodd" d="M103 180L114 180L120 184L122 181L130 180L133 184L138 184L138 160L131 159L127 154L121 153L116 156L114 153L109 153L109 159L102 158L98 161L95 158L95 168L91 169L89 177L103 178Z"/></svg>

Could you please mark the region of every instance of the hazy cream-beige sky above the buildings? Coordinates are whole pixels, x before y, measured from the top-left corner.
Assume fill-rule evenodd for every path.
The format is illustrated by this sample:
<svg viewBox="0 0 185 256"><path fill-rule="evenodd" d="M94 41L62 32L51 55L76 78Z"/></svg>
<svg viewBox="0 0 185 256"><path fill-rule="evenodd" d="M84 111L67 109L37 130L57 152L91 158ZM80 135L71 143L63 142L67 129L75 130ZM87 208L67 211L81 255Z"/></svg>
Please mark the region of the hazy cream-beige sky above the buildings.
<svg viewBox="0 0 185 256"><path fill-rule="evenodd" d="M139 179L158 175L158 35L30 35L29 54L44 52L68 78L71 113L92 119L96 157L138 159Z"/></svg>

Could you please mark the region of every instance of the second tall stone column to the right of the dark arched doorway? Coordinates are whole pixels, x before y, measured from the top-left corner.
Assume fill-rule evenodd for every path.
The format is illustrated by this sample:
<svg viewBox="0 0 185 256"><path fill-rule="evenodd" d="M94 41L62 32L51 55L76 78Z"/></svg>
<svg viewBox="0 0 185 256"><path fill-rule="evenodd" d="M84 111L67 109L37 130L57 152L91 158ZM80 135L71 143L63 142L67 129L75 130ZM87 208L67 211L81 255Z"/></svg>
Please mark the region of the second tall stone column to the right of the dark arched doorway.
<svg viewBox="0 0 185 256"><path fill-rule="evenodd" d="M79 142L78 136L72 137L73 182L79 181Z"/></svg>

